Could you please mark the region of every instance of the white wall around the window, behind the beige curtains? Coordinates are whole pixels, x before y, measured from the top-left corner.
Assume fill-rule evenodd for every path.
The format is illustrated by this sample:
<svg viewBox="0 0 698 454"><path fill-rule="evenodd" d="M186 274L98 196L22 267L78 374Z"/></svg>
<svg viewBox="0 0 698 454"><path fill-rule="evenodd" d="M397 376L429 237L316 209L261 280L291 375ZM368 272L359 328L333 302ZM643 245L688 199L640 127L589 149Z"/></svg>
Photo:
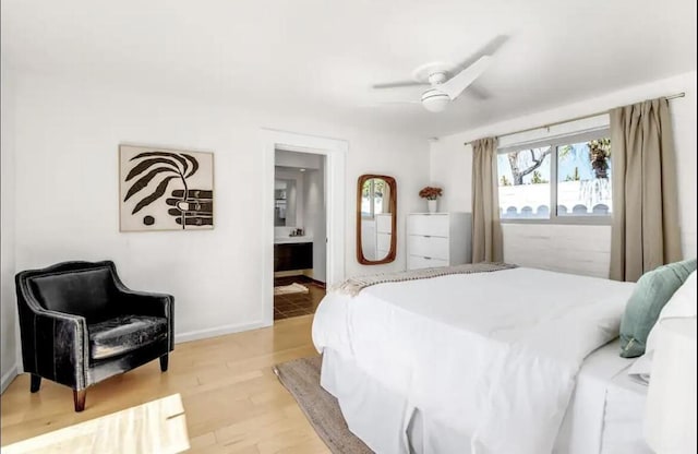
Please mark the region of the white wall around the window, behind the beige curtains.
<svg viewBox="0 0 698 454"><path fill-rule="evenodd" d="M593 99L464 131L432 142L431 181L444 187L442 207L449 211L471 211L472 148L464 145L466 142L565 121L679 92L685 92L686 96L670 101L678 160L679 224L684 256L696 256L696 72L628 87ZM597 120L587 120L594 121ZM542 139L563 133L564 129L565 127L553 127L550 131L540 129L519 138L503 140L512 143L514 140ZM607 276L611 247L609 226L506 224L503 229L506 261L527 266Z"/></svg>

